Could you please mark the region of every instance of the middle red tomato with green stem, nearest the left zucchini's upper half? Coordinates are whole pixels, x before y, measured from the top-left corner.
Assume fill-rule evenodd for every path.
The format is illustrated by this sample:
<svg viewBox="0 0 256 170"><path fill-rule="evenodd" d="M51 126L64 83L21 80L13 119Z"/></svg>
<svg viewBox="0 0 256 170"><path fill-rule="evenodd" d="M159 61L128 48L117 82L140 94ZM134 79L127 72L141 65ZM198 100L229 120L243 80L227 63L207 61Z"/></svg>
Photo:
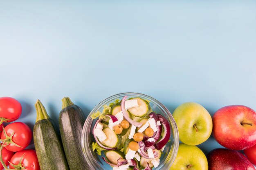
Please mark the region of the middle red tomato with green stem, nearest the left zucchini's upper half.
<svg viewBox="0 0 256 170"><path fill-rule="evenodd" d="M7 150L10 150L12 152L17 152L22 149L25 149L31 142L32 139L32 131L27 126L27 124L22 122L14 122L11 124L8 124L4 127L4 131L7 133L8 136L11 136L11 134L14 132L14 135L12 137L12 141L17 144L18 146L15 146L13 144L9 144L5 146ZM1 139L6 139L4 132L2 132Z"/></svg>

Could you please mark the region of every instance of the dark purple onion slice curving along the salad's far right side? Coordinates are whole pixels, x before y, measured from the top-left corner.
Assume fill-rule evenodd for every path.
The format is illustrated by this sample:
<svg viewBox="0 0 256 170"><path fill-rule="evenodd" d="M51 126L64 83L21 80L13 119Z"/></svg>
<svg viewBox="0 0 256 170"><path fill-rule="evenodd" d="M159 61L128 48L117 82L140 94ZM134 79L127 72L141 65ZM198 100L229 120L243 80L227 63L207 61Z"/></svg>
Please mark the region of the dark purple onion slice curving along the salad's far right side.
<svg viewBox="0 0 256 170"><path fill-rule="evenodd" d="M164 135L162 137L162 139L160 139L156 144L155 144L155 148L157 150L160 150L164 147L164 145L167 144L168 140L170 139L170 136L171 136L171 127L170 127L170 124L168 122L168 120L166 120L166 118L164 118L164 116L160 115L160 114L157 114L161 124L162 124L162 127L164 129Z"/></svg>

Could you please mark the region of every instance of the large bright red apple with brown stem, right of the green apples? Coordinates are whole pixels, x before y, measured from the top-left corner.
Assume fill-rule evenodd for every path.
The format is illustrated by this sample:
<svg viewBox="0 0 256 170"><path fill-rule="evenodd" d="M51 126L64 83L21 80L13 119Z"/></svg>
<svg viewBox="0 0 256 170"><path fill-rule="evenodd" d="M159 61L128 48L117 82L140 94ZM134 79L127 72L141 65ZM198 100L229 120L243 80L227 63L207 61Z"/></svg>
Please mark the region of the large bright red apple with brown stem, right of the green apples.
<svg viewBox="0 0 256 170"><path fill-rule="evenodd" d="M256 112L246 106L222 107L213 115L213 137L228 149L243 150L256 144Z"/></svg>

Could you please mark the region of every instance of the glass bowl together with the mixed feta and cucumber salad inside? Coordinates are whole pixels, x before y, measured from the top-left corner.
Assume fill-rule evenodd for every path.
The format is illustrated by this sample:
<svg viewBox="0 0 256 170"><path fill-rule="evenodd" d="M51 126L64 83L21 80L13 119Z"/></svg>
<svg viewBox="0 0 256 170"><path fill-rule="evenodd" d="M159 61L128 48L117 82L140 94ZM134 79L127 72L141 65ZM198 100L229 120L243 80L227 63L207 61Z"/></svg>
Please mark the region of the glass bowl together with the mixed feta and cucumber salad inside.
<svg viewBox="0 0 256 170"><path fill-rule="evenodd" d="M82 134L85 159L97 170L168 169L179 144L168 109L136 93L101 102L88 116Z"/></svg>

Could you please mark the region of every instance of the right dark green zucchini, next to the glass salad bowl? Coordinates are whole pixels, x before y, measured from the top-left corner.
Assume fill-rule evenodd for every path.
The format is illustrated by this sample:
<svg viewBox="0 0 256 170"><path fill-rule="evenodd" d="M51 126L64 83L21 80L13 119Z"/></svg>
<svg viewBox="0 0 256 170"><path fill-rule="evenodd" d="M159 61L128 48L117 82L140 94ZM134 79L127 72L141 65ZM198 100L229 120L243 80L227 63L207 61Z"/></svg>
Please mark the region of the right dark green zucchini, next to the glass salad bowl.
<svg viewBox="0 0 256 170"><path fill-rule="evenodd" d="M85 122L83 111L74 105L70 98L63 98L58 122L70 170L90 170L81 147L81 136Z"/></svg>

